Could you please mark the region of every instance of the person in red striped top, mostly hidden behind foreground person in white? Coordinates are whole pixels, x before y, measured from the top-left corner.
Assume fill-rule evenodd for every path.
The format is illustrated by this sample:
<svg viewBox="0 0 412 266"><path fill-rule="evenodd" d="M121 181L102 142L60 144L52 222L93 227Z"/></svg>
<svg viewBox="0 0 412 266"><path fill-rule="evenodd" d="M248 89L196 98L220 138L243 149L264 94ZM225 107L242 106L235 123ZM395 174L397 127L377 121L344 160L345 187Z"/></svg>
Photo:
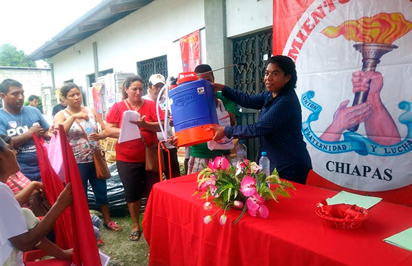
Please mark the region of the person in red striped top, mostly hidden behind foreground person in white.
<svg viewBox="0 0 412 266"><path fill-rule="evenodd" d="M3 141L13 147L12 138L6 135L0 135ZM14 150L14 149L13 149ZM9 176L6 184L14 193L17 202L24 208L29 208L29 197L35 191L43 190L43 183L37 181L30 181L20 171Z"/></svg>

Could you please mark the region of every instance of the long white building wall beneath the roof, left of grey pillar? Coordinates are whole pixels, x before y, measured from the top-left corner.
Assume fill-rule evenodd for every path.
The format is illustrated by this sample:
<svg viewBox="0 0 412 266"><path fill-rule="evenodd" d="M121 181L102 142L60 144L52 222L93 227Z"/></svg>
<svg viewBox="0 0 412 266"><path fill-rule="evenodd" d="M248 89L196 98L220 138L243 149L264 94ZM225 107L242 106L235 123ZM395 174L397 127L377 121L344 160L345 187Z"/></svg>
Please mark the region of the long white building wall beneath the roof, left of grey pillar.
<svg viewBox="0 0 412 266"><path fill-rule="evenodd" d="M153 1L54 56L56 86L71 79L78 86L87 86L86 75L94 73L93 42L98 43L99 71L113 68L136 73L137 62L167 55L169 75L176 76L182 64L179 41L175 40L203 27L203 0ZM205 49L204 42L201 47Z"/></svg>

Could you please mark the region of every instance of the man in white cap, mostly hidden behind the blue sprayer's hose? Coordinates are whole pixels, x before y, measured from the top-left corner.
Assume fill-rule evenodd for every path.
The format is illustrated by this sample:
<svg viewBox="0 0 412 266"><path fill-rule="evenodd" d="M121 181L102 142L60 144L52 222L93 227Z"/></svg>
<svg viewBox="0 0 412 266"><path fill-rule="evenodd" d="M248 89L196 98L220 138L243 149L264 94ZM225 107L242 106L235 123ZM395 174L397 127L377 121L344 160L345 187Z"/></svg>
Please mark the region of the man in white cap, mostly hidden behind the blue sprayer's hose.
<svg viewBox="0 0 412 266"><path fill-rule="evenodd" d="M157 97L159 95L159 92L161 88L165 85L165 77L161 74L154 74L150 76L149 79L149 85L148 85L148 94L144 95L142 99L149 100L149 101L157 101ZM162 95L161 98L159 99L159 107L163 112L166 110L166 104L165 104L165 96ZM170 107L168 110L170 114ZM168 126L168 138L172 136L172 127ZM159 141L163 141L163 134L161 132L157 132L157 138L159 138ZM179 167L179 160L177 159L177 149L170 143L166 142L166 147L168 147L170 151L170 167L172 168L172 178L176 178L180 176L180 167ZM169 173L169 160L168 160L168 153L163 151L163 157L165 158L165 175L167 178L169 178L170 173Z"/></svg>

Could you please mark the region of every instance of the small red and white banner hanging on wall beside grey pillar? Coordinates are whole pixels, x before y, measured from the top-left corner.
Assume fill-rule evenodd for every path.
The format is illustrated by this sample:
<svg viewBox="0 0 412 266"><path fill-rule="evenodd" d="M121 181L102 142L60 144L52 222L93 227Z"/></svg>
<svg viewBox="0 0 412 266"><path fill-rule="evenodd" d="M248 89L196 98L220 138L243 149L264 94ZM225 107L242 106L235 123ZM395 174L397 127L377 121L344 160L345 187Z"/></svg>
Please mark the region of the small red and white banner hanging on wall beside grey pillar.
<svg viewBox="0 0 412 266"><path fill-rule="evenodd" d="M180 38L179 43L181 45L183 72L194 71L196 66L201 64L201 39L199 37L199 30Z"/></svg>

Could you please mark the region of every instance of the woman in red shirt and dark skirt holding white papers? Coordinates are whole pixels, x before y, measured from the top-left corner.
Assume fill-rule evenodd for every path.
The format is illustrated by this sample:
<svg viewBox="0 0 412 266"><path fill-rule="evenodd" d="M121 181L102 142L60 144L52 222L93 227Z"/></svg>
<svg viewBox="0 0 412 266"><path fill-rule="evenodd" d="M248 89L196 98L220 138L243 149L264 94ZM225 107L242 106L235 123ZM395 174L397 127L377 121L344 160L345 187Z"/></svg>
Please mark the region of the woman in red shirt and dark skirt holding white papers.
<svg viewBox="0 0 412 266"><path fill-rule="evenodd" d="M116 103L106 116L106 136L119 138L122 127L123 113L127 110L136 110L140 119L135 123L150 147L158 142L156 132L160 131L157 121L156 103L142 99L143 80L137 75L130 76L124 82L124 101ZM161 120L164 113L159 112ZM141 138L116 143L116 162L119 178L124 186L124 194L133 220L133 229L130 232L130 241L139 241L141 230L139 215L142 195L149 194L153 184L159 181L159 173L146 171L146 150Z"/></svg>

